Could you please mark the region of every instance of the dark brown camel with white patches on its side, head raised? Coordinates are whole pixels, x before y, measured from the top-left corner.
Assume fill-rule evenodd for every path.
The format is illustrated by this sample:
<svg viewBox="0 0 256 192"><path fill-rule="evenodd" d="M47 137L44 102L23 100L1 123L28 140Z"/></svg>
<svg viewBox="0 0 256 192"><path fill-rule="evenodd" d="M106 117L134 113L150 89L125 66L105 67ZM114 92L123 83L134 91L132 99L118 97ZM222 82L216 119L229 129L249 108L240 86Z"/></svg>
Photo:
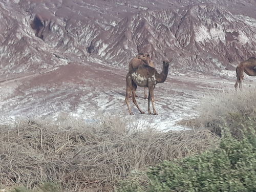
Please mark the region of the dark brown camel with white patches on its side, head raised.
<svg viewBox="0 0 256 192"><path fill-rule="evenodd" d="M152 101L153 106L153 115L157 115L155 110L155 98L154 98L154 89L157 83L164 82L168 75L168 69L169 69L169 61L163 61L163 70L159 74L155 68L142 65L138 67L137 69L132 70L126 75L126 96L125 96L125 102L127 104L128 110L130 115L132 115L132 111L130 109L129 105L129 94L132 91L132 100L134 104L137 106L140 113L144 113L139 108L136 99L135 99L135 92L137 89L137 86L139 87L148 87L148 108L147 112L148 114L151 114L150 111L150 101Z"/></svg>

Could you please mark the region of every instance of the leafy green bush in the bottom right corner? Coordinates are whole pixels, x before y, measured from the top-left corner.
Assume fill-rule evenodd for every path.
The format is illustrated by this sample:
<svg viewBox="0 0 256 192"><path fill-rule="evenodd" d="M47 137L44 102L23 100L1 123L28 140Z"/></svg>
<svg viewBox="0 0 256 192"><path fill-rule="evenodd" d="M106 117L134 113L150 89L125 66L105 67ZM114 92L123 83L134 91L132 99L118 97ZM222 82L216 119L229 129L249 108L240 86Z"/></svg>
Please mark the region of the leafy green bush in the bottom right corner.
<svg viewBox="0 0 256 192"><path fill-rule="evenodd" d="M122 182L117 191L256 191L253 128L239 140L226 134L213 151L151 167L144 187Z"/></svg>

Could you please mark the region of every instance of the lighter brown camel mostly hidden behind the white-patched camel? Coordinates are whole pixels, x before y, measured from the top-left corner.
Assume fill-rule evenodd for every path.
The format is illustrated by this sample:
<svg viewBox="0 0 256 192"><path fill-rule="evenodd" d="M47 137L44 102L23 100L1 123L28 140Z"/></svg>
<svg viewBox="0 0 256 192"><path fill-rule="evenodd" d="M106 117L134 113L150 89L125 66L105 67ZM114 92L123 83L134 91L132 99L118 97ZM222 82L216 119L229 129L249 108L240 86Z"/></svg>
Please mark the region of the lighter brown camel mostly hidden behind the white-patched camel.
<svg viewBox="0 0 256 192"><path fill-rule="evenodd" d="M129 72L137 69L141 65L147 65L154 68L154 64L151 61L149 54L139 53L136 57L132 58L129 62ZM144 88L144 99L146 99L146 88Z"/></svg>

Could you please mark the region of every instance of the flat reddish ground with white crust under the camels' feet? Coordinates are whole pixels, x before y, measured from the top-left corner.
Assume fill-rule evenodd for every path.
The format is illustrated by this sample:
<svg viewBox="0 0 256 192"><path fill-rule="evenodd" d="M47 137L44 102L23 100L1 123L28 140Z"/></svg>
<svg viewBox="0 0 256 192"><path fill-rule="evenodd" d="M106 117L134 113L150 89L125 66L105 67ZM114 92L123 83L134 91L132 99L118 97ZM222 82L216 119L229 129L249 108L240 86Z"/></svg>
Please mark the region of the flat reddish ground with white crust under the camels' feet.
<svg viewBox="0 0 256 192"><path fill-rule="evenodd" d="M161 69L157 69L159 72ZM52 71L42 71L15 79L1 79L0 122L24 118L56 118L66 114L95 122L101 115L120 117L125 122L151 125L160 130L184 129L176 125L181 119L197 116L198 104L205 95L221 91L234 91L236 73L222 71L210 75L187 71L182 74L169 67L164 83L155 88L155 106L158 115L140 114L134 103L129 115L125 104L126 69L105 63L70 63ZM244 89L256 79L245 76ZM147 113L144 88L137 89L137 102ZM129 123L128 123L129 124Z"/></svg>

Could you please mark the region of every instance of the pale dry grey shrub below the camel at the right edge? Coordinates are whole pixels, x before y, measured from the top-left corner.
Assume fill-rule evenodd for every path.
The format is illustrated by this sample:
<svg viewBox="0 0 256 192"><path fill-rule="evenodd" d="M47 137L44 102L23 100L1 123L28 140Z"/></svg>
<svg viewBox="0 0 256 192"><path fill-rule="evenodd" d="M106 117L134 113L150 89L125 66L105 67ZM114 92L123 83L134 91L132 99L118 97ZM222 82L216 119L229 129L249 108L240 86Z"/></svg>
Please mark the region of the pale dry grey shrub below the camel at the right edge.
<svg viewBox="0 0 256 192"><path fill-rule="evenodd" d="M180 124L207 127L218 135L223 127L229 127L231 134L238 137L241 130L256 125L256 90L249 88L243 92L211 94L203 99L199 109L198 118L183 120Z"/></svg>

